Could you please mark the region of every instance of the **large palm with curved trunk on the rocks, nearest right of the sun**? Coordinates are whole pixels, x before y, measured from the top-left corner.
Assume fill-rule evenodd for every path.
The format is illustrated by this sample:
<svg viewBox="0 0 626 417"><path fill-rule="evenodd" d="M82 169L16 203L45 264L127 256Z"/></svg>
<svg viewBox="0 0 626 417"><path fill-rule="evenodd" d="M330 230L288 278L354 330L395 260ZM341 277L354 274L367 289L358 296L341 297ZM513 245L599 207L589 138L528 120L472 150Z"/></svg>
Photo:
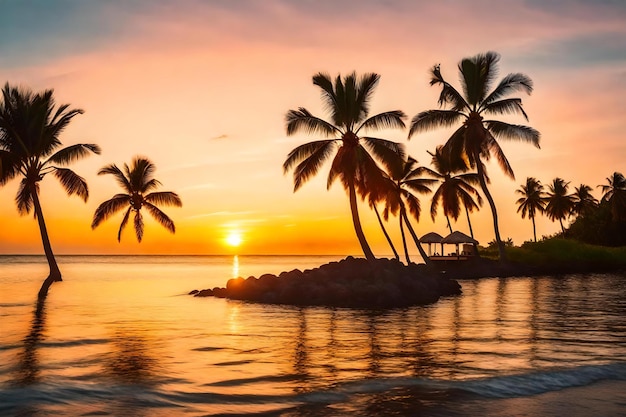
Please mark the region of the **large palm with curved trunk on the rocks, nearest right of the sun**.
<svg viewBox="0 0 626 417"><path fill-rule="evenodd" d="M332 155L327 187L338 178L348 191L352 223L363 254L375 259L361 227L357 208L357 193L367 194L368 184L380 181L382 172L374 158L388 165L394 156L404 157L401 144L362 136L362 131L382 128L404 128L405 114L400 110L379 113L368 117L370 100L380 76L374 73L361 77L351 73L344 78L319 73L313 84L322 90L322 100L330 113L328 122L311 114L307 109L289 110L286 115L287 135L298 132L317 134L327 139L305 143L293 149L283 164L286 173L293 169L294 192L309 178L317 174ZM370 154L371 152L371 154Z"/></svg>

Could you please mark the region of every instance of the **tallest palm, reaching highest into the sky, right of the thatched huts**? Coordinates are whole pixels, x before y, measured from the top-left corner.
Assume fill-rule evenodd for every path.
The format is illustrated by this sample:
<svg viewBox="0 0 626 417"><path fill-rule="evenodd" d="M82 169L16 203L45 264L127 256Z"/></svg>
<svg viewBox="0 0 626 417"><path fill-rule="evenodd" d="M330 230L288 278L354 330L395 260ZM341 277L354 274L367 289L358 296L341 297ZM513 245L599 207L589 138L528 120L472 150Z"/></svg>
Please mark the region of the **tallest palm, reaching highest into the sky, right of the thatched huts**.
<svg viewBox="0 0 626 417"><path fill-rule="evenodd" d="M470 167L476 168L480 186L489 202L493 215L495 232L500 259L506 259L504 243L500 238L498 213L496 205L487 188L488 177L483 161L493 155L504 173L515 178L498 139L519 140L539 147L539 132L535 129L509 124L499 120L484 120L484 115L521 114L526 120L528 116L522 108L519 98L504 98L510 93L521 91L532 92L532 80L521 73L506 75L491 90L497 76L500 56L495 52L479 54L465 58L459 63L459 73L463 94L457 91L441 75L439 65L432 70L430 85L441 86L439 104L449 105L449 109L426 110L417 114L409 131L409 139L417 132L428 131L437 127L452 127L462 122L445 144L444 151L452 155L462 155Z"/></svg>

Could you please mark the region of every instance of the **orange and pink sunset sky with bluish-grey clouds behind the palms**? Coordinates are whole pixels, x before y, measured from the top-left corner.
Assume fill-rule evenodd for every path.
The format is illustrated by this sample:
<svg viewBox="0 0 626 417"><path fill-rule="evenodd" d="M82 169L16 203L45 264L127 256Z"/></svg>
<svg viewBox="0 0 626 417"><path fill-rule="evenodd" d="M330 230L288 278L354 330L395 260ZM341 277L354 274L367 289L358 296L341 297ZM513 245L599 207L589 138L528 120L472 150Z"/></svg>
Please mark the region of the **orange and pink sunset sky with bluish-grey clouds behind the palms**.
<svg viewBox="0 0 626 417"><path fill-rule="evenodd" d="M85 111L63 144L102 148L71 166L89 184L86 203L66 196L53 177L41 184L57 254L359 255L347 195L339 183L326 189L329 167L295 193L283 173L292 148L319 139L288 137L286 112L306 107L327 117L312 84L320 71L375 72L371 114L397 109L410 121L437 108L433 65L460 87L458 62L486 51L501 55L501 77L521 72L534 82L532 95L520 96L529 121L507 121L537 129L541 149L501 142L515 179L487 166L501 235L521 244L532 238L515 205L526 177L544 184L561 177L572 191L588 184L599 198L597 185L626 173L626 2L0 0L0 82L54 89L57 103ZM377 136L405 144L428 165L427 151L451 130L410 141L407 133ZM96 207L120 191L97 172L136 155L154 162L161 190L178 193L183 207L164 207L174 235L147 219L141 244L131 228L118 243L122 213L90 227ZM17 185L0 188L0 254L43 253L37 222L15 207ZM417 233L447 234L442 215L431 220L427 196L421 204ZM374 252L388 255L375 215L359 208ZM494 238L487 205L472 225L481 244ZM453 227L468 233L463 217ZM388 229L400 247L397 219ZM537 221L539 236L559 229Z"/></svg>

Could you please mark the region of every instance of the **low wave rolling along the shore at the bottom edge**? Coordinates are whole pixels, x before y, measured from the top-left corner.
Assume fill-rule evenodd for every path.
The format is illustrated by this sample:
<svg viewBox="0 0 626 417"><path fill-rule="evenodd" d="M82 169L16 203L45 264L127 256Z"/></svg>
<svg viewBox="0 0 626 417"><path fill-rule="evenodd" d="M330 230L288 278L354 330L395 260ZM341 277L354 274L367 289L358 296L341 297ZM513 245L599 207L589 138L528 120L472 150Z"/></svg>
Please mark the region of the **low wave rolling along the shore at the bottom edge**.
<svg viewBox="0 0 626 417"><path fill-rule="evenodd" d="M215 408L225 405L252 408L269 406L274 412L298 407L319 407L353 402L356 398L408 389L416 401L454 401L467 395L485 399L503 399L533 396L552 391L591 385L600 381L626 381L626 362L604 365L552 369L515 375L453 381L428 378L394 377L362 379L342 382L328 389L308 392L291 391L286 394L227 394L211 392L215 387L249 386L257 383L288 383L297 385L302 375L267 375L259 378L241 378L206 384L203 392L166 389L156 384L107 385L87 381L63 380L55 384L36 384L27 387L0 389L0 414L23 409L28 404L78 405L97 402L116 402L120 398L132 400L141 408ZM167 381L171 382L171 381ZM464 396L463 393L466 395Z"/></svg>

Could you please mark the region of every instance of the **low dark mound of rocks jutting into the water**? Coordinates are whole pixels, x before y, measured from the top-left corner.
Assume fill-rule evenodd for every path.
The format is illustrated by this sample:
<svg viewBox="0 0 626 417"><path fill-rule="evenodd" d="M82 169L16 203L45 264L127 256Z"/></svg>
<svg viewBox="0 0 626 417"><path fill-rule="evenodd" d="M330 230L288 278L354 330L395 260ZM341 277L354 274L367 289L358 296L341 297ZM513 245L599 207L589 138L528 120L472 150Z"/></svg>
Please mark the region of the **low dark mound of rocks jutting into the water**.
<svg viewBox="0 0 626 417"><path fill-rule="evenodd" d="M305 271L234 278L225 288L194 295L299 306L396 308L430 304L460 293L458 282L424 264L348 257Z"/></svg>

